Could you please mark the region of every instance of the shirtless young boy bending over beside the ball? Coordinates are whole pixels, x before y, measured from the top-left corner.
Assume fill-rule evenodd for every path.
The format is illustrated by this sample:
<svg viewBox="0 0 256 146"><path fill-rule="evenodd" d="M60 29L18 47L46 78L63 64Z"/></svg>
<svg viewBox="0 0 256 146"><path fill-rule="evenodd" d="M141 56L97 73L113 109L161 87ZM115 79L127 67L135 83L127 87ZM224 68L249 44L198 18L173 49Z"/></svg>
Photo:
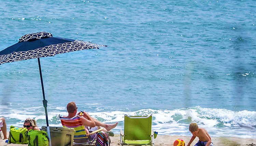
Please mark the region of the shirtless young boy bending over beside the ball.
<svg viewBox="0 0 256 146"><path fill-rule="evenodd" d="M213 146L211 141L211 136L204 128L198 128L196 123L191 123L189 125L189 131L193 134L187 146L195 140L196 137L199 138L199 141L195 144L195 146Z"/></svg>

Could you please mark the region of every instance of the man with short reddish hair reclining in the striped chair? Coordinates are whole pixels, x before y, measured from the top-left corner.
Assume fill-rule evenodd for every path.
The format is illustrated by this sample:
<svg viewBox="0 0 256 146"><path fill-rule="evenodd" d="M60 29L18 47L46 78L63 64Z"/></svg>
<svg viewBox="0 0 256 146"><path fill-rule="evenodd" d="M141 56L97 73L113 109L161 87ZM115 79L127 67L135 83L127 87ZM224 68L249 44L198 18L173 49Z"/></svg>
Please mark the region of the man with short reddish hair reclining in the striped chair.
<svg viewBox="0 0 256 146"><path fill-rule="evenodd" d="M67 105L67 111L68 111L68 116L63 116L63 118L72 118L75 115L77 115L77 106L75 104L75 102L71 102L68 103ZM80 115L81 112L79 112L78 114ZM100 121L96 120L95 118L91 117L87 112L83 112L82 115L80 115L81 121L85 127L85 131L86 134L90 133L89 131L93 132L95 130L100 129L101 127L103 127L104 129L102 131L104 132L109 132L111 129L115 128L118 124L118 122L116 122L115 124L105 124L105 123L101 123ZM91 127L90 129L88 127ZM111 131L112 132L112 131ZM111 132L109 132L111 134ZM112 132L113 133L113 132ZM95 136L94 133L92 135L90 135L88 138L89 140L91 138L93 138ZM114 135L113 135L114 136Z"/></svg>

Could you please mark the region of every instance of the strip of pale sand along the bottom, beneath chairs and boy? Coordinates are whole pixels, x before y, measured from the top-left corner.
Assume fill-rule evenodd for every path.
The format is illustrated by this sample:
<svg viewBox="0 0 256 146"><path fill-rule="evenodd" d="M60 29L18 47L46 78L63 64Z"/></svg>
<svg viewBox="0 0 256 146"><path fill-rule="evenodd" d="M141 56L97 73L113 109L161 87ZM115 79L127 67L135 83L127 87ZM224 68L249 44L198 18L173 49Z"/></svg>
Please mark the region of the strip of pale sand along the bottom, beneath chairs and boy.
<svg viewBox="0 0 256 146"><path fill-rule="evenodd" d="M2 134L2 133L1 133ZM183 139L188 143L190 136L170 136L170 135L157 135L155 139L155 146L173 146L176 139ZM194 146L198 138L194 140L191 146ZM256 139L243 139L236 137L212 137L214 146L256 146ZM5 140L0 140L0 146L24 146L21 144L7 144ZM120 146L120 135L115 134L111 137L111 146Z"/></svg>

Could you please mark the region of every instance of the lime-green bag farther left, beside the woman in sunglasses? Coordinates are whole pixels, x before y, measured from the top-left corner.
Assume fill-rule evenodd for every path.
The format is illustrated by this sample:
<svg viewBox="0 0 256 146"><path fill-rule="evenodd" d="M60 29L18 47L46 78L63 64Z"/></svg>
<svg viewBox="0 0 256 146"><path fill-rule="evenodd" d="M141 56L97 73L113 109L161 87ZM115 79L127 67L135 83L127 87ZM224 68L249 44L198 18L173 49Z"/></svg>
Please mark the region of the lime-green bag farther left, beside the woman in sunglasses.
<svg viewBox="0 0 256 146"><path fill-rule="evenodd" d="M28 144L28 129L11 126L8 140L9 144Z"/></svg>

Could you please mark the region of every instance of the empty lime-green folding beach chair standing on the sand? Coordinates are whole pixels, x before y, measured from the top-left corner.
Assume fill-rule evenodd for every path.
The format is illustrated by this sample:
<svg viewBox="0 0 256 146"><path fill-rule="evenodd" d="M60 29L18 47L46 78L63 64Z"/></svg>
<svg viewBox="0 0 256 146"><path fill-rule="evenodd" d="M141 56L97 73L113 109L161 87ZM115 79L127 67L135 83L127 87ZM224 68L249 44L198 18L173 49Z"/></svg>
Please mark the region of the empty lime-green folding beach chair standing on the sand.
<svg viewBox="0 0 256 146"><path fill-rule="evenodd" d="M128 116L125 114L124 133L120 130L121 145L154 146L154 132L151 130L152 114L149 116Z"/></svg>

